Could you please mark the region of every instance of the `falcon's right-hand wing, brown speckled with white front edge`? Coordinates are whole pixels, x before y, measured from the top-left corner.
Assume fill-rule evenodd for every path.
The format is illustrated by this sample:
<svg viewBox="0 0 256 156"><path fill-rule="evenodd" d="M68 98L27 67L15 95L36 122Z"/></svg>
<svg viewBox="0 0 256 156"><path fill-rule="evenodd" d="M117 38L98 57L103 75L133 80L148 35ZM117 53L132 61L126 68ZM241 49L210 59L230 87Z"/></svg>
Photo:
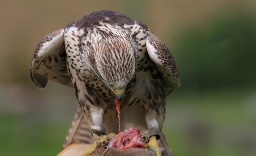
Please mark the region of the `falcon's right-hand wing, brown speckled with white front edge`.
<svg viewBox="0 0 256 156"><path fill-rule="evenodd" d="M162 87L167 96L180 87L180 76L176 62L166 45L154 33L147 36L146 47L150 59L162 74Z"/></svg>

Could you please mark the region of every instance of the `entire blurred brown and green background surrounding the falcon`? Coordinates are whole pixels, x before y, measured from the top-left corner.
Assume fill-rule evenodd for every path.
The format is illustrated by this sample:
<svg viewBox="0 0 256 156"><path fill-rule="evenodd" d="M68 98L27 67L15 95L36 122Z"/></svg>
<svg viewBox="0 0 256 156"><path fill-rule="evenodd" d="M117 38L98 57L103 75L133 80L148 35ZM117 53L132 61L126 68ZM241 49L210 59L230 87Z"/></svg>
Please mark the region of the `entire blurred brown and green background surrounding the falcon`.
<svg viewBox="0 0 256 156"><path fill-rule="evenodd" d="M181 87L164 131L175 156L256 155L255 0L0 1L0 155L57 155L78 102L72 88L39 90L37 43L98 10L143 21L172 51Z"/></svg>

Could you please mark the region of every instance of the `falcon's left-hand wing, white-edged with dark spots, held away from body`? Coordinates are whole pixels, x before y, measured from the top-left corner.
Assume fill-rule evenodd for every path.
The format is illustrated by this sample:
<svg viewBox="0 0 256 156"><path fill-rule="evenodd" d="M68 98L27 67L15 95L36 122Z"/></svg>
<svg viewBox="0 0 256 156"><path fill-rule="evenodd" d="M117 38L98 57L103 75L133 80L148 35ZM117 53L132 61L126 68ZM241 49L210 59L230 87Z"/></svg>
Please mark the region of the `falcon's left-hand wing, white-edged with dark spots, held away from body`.
<svg viewBox="0 0 256 156"><path fill-rule="evenodd" d="M37 45L30 65L30 78L44 89L48 79L73 87L66 67L64 28L46 35Z"/></svg>

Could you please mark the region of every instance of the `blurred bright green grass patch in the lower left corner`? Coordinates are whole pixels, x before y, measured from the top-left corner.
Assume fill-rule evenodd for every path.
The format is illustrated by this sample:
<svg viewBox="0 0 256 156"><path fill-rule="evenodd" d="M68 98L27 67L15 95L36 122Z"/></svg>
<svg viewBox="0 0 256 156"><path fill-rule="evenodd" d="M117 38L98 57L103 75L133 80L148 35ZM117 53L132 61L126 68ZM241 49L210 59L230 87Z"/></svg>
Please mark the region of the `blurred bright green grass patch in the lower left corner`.
<svg viewBox="0 0 256 156"><path fill-rule="evenodd" d="M57 155L69 124L29 121L17 114L0 114L0 155Z"/></svg>

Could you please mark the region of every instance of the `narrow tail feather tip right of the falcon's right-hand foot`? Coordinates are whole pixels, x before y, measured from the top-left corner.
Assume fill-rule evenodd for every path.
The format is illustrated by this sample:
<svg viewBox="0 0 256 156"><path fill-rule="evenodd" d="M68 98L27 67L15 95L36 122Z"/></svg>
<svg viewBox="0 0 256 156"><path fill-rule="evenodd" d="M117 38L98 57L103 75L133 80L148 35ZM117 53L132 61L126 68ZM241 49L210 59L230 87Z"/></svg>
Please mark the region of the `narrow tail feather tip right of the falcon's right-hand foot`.
<svg viewBox="0 0 256 156"><path fill-rule="evenodd" d="M162 153L162 156L173 156L172 149L170 148L167 139L164 135L164 131L160 133L160 139L157 140L159 149Z"/></svg>

